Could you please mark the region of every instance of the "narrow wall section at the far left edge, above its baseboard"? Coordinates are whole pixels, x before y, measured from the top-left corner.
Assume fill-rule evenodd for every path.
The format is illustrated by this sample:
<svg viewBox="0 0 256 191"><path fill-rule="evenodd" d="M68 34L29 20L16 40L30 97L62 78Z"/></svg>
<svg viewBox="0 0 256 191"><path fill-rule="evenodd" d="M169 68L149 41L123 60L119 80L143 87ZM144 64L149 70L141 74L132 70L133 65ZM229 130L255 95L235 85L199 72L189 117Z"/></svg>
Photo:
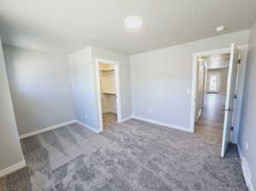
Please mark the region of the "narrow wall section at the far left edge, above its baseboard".
<svg viewBox="0 0 256 191"><path fill-rule="evenodd" d="M0 38L0 171L23 159ZM1 174L0 174L1 176Z"/></svg>

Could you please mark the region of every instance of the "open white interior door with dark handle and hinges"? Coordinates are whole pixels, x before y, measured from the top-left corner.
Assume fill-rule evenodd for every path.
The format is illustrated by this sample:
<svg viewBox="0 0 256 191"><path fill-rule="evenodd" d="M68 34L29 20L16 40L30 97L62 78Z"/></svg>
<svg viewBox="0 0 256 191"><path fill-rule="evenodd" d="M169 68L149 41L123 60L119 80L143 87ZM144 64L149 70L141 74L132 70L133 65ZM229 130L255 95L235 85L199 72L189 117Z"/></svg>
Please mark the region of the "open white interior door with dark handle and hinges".
<svg viewBox="0 0 256 191"><path fill-rule="evenodd" d="M232 125L232 116L234 111L234 98L236 91L236 70L239 61L239 50L236 44L231 44L230 66L227 80L227 96L224 115L224 131L222 138L221 156L224 157L230 143L230 129Z"/></svg>

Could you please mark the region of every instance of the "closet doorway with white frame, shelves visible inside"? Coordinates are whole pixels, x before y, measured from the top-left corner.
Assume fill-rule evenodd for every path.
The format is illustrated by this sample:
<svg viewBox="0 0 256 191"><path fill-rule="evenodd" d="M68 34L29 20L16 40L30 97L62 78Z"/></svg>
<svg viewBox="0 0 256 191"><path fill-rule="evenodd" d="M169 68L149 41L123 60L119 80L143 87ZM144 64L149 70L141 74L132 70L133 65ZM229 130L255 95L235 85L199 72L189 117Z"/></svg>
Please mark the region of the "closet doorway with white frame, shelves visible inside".
<svg viewBox="0 0 256 191"><path fill-rule="evenodd" d="M96 59L99 124L102 130L120 122L119 62Z"/></svg>

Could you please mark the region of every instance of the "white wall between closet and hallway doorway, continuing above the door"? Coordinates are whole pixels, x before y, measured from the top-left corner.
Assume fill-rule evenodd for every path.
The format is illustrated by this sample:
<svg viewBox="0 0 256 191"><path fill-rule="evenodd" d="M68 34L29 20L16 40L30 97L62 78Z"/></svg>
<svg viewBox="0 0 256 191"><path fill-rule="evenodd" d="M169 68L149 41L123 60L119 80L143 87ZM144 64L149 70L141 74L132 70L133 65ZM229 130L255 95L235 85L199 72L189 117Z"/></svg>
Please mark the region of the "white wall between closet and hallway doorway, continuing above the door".
<svg viewBox="0 0 256 191"><path fill-rule="evenodd" d="M189 130L193 54L247 44L248 34L234 32L131 55L131 113Z"/></svg>

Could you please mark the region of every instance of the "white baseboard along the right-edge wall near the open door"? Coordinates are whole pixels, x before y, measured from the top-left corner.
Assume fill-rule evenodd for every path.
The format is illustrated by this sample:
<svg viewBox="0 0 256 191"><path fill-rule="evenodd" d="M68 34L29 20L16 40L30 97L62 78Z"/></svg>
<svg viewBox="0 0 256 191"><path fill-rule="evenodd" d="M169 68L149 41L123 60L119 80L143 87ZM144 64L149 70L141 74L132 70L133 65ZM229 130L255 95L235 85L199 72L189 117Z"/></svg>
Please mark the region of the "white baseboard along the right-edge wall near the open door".
<svg viewBox="0 0 256 191"><path fill-rule="evenodd" d="M251 174L250 168L247 164L247 159L245 159L243 157L239 144L237 144L237 148L238 148L238 153L239 153L239 156L240 156L240 159L241 159L241 170L243 172L243 176L244 176L245 181L247 183L247 187L248 187L249 191L255 191L255 189L253 188L253 184L252 184L252 180L251 180L252 174Z"/></svg>

